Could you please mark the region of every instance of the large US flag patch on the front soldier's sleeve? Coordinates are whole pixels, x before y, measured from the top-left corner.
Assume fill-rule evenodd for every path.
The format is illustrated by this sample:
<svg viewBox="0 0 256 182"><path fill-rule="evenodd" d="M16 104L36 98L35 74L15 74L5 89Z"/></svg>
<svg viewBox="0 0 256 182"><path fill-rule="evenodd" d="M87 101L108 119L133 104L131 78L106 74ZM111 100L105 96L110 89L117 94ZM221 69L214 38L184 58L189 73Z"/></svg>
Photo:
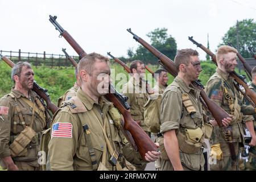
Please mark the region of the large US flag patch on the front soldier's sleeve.
<svg viewBox="0 0 256 182"><path fill-rule="evenodd" d="M71 123L55 123L52 126L52 137L72 138L73 125Z"/></svg>

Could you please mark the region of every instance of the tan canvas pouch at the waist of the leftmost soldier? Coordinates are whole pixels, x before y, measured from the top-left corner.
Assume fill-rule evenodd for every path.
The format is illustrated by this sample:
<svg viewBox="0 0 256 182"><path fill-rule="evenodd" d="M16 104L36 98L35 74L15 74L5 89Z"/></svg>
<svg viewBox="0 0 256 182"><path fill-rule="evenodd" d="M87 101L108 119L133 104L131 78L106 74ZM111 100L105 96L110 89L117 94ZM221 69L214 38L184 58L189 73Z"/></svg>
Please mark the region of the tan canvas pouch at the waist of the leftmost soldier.
<svg viewBox="0 0 256 182"><path fill-rule="evenodd" d="M25 129L13 140L13 143L10 144L11 157L15 158L16 156L26 156L27 147L32 148L32 146L36 146L36 144L28 146L35 135L35 131L31 127L26 126Z"/></svg>

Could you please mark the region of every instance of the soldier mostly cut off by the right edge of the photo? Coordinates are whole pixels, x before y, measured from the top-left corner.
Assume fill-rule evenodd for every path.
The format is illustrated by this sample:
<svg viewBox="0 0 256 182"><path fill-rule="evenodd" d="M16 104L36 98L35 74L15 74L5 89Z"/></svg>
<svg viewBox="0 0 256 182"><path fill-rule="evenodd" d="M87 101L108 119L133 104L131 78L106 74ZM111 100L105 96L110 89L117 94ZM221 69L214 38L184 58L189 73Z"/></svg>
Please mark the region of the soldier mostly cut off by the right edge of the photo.
<svg viewBox="0 0 256 182"><path fill-rule="evenodd" d="M249 88L256 93L256 67L254 67L251 70L251 78L252 78L252 82L251 82ZM246 100L245 104L250 106L250 102L247 100ZM253 124L254 124L254 131L255 131L256 130L256 115L253 114L253 117L254 117ZM255 133L250 133L250 135L252 138L255 138ZM249 143L249 145L250 145L250 143ZM256 170L256 147L255 146L254 147L251 146L249 148L249 159L248 159L245 167L246 167L246 169L249 169L251 171Z"/></svg>

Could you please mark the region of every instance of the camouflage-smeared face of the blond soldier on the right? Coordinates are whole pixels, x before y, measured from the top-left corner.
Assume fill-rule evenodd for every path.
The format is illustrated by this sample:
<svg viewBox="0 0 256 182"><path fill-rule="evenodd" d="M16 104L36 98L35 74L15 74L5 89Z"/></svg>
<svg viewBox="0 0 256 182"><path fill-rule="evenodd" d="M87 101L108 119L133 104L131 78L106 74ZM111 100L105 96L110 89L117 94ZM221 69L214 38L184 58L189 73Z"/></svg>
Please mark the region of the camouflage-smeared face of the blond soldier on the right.
<svg viewBox="0 0 256 182"><path fill-rule="evenodd" d="M225 71L232 73L237 66L237 54L234 52L229 52L223 55L223 59L220 63L224 65Z"/></svg>

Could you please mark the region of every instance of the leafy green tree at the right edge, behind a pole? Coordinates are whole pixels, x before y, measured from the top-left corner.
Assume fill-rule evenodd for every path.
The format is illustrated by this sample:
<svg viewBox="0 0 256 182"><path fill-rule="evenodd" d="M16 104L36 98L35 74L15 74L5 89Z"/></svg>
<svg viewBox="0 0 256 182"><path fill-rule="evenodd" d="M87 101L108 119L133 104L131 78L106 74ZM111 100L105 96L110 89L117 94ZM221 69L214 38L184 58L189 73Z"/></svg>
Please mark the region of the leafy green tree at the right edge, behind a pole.
<svg viewBox="0 0 256 182"><path fill-rule="evenodd" d="M238 52L243 57L251 57L248 47L256 47L256 22L254 19L243 19L238 21L239 32L239 50ZM237 46L237 24L230 27L228 32L222 38L222 43L219 45L228 45L230 42L234 47Z"/></svg>

